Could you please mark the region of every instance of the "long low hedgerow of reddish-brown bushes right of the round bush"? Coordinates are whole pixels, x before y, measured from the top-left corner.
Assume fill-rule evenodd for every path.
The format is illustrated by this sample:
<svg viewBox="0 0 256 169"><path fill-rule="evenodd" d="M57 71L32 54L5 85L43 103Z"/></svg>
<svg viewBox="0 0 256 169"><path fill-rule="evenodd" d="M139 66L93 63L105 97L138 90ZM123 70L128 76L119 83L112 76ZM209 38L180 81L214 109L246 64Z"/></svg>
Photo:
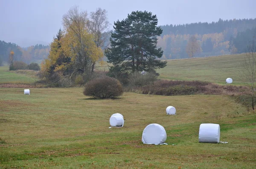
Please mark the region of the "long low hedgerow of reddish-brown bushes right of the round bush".
<svg viewBox="0 0 256 169"><path fill-rule="evenodd" d="M218 85L203 81L157 80L154 84L129 87L128 92L137 92L145 95L240 95L250 90L246 86Z"/></svg>

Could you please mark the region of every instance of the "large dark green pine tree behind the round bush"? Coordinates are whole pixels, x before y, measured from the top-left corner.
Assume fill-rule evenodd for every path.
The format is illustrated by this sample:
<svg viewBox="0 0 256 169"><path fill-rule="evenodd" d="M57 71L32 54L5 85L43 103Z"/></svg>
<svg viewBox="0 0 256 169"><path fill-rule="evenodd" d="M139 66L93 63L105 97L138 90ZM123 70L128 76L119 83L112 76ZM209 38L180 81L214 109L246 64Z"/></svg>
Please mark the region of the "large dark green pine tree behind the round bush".
<svg viewBox="0 0 256 169"><path fill-rule="evenodd" d="M110 71L135 73L154 71L166 66L166 61L157 60L163 55L157 49L157 36L163 30L157 26L157 17L148 11L133 11L125 20L114 22L111 48L105 50Z"/></svg>

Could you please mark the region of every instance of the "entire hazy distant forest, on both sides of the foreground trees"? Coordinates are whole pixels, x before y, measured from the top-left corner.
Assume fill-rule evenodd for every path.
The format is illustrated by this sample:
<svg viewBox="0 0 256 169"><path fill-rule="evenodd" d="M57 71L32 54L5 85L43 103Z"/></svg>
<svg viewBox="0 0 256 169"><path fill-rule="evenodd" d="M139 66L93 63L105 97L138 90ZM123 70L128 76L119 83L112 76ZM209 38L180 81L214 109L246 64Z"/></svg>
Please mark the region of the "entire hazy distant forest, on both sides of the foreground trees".
<svg viewBox="0 0 256 169"><path fill-rule="evenodd" d="M192 57L239 54L246 52L246 45L256 35L255 19L222 20L212 23L190 23L183 25L161 26L163 33L158 37L157 46L164 51L161 59L181 59L191 57L189 46L196 43L198 49ZM110 32L108 32L110 34ZM110 36L110 35L109 35ZM109 38L108 38L109 39ZM194 39L191 41L191 39ZM105 42L107 46L109 41ZM9 53L13 51L14 60L30 63L42 60L49 54L49 46L37 44L21 48L15 43L0 40L0 66L9 61Z"/></svg>

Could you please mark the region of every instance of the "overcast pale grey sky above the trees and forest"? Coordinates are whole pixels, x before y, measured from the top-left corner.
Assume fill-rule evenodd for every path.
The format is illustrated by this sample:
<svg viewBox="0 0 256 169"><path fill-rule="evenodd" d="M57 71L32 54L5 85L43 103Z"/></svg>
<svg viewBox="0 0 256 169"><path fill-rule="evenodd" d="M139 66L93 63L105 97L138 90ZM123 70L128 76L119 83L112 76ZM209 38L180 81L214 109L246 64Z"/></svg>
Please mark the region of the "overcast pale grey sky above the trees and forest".
<svg viewBox="0 0 256 169"><path fill-rule="evenodd" d="M112 25L137 10L156 14L159 25L256 17L256 0L0 0L0 40L22 47L50 43L74 5L106 9Z"/></svg>

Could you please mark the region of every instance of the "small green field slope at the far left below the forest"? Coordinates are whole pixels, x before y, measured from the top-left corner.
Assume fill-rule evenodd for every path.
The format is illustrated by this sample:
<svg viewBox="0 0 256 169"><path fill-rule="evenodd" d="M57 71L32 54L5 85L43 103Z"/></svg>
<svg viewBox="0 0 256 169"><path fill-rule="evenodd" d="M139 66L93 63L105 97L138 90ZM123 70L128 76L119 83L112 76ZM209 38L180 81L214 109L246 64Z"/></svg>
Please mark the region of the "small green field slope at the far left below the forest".
<svg viewBox="0 0 256 169"><path fill-rule="evenodd" d="M35 80L25 74L8 72L9 66L0 66L0 83L33 83Z"/></svg>

